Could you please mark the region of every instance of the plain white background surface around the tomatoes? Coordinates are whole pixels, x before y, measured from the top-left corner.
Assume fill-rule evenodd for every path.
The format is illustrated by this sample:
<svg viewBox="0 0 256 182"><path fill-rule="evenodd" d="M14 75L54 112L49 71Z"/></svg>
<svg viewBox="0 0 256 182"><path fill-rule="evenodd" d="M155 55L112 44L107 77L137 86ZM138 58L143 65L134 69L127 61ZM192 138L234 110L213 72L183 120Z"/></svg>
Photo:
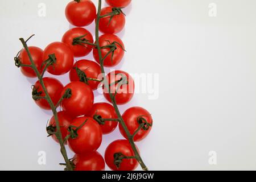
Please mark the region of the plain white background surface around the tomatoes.
<svg viewBox="0 0 256 182"><path fill-rule="evenodd" d="M46 17L38 16L42 2ZM36 34L29 45L41 48L61 40L68 2L0 1L0 169L63 169L59 146L46 138L51 113L32 101L36 80L23 77L13 57L20 37ZM216 17L208 15L210 3ZM255 7L254 0L134 0L125 10L126 29L118 35L127 53L117 68L160 79L157 100L138 93L121 107L152 113L153 130L138 143L149 169L256 169ZM68 75L59 78L68 83ZM101 154L117 138L118 129L104 136ZM38 164L39 151L46 151L45 166ZM209 165L209 151L217 152L217 165Z"/></svg>

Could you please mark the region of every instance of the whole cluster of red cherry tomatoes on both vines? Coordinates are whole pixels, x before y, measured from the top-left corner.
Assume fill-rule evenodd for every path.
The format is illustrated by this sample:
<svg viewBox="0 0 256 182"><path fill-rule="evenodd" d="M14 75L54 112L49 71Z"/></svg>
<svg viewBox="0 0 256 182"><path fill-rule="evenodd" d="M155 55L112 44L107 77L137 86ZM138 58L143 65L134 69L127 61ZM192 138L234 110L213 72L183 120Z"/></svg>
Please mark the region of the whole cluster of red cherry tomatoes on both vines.
<svg viewBox="0 0 256 182"><path fill-rule="evenodd" d="M106 0L106 2L109 6L101 9L100 13L98 29L102 35L99 44L101 56L104 57L104 67L114 67L121 62L125 53L125 45L115 34L122 31L125 26L125 14L122 8L129 5L131 0ZM99 51L92 34L83 28L97 18L96 7L92 1L69 2L65 15L68 22L76 27L65 32L61 42L53 42L44 50L32 46L28 47L28 50L42 76L46 71L55 76L69 73L71 82L66 86L53 77L42 79L53 104L62 109L57 113L57 117L64 144L68 144L75 152L72 158L74 169L101 171L105 169L106 162L113 170L133 170L137 168L138 162L133 158L134 150L121 123L119 130L125 139L115 140L109 144L105 151L105 160L97 152L102 142L102 135L112 133L117 127L118 115L113 105L107 102L94 103L93 90L103 89L104 97L109 102L112 101L109 91L113 91L115 104L123 105L133 98L134 80L129 73L114 71L106 76L109 89L102 85ZM91 51L95 61L82 59L74 64L74 57L84 57ZM31 65L25 49L19 53L19 60L22 65ZM24 66L20 69L24 76L37 77L31 67ZM45 110L51 109L39 81L33 85L32 95L39 107ZM131 135L136 131L133 136L134 142L144 139L151 130L151 114L142 107L127 109L122 119ZM48 134L50 133L52 138L59 142L54 134L55 117L49 120L47 129ZM119 163L116 162L117 160Z"/></svg>

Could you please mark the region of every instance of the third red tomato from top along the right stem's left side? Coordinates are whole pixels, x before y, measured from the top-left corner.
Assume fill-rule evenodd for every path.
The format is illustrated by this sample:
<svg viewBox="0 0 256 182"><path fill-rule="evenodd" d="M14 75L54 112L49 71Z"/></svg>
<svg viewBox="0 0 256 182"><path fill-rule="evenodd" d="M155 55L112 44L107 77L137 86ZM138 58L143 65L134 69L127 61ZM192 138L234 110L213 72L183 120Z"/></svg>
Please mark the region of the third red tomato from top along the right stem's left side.
<svg viewBox="0 0 256 182"><path fill-rule="evenodd" d="M101 76L101 67L98 63L90 60L80 60L77 61L71 71L69 72L69 79L70 81L80 81L79 76L77 76L76 67L83 71L88 78L96 78L100 79ZM92 81L88 80L88 85L92 90L96 90L98 85L100 84L99 81Z"/></svg>

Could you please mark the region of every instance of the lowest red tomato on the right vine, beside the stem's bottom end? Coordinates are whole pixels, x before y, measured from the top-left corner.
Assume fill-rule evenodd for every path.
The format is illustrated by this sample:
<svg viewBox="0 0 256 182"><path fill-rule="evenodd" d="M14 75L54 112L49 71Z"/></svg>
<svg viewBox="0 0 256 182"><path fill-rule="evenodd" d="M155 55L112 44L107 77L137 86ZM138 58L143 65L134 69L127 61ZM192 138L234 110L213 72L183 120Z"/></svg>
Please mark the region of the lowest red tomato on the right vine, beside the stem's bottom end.
<svg viewBox="0 0 256 182"><path fill-rule="evenodd" d="M134 156L133 149L128 140L115 140L109 144L105 151L105 162L110 169L114 171L133 171L138 167L136 159L123 159L120 167L117 168L114 164L114 154L120 152L126 156Z"/></svg>

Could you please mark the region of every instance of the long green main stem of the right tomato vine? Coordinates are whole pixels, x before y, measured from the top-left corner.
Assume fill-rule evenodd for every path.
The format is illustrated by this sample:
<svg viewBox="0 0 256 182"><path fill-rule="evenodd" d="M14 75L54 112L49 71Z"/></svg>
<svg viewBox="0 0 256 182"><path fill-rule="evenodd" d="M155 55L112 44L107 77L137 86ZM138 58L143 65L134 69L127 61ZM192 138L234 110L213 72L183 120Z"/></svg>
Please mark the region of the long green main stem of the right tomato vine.
<svg viewBox="0 0 256 182"><path fill-rule="evenodd" d="M109 94L110 94L110 98L112 101L112 104L114 106L115 112L117 113L118 119L119 119L119 123L121 123L123 129L125 130L125 133L128 137L128 140L131 144L131 148L133 148L134 154L135 154L135 158L138 160L138 163L141 165L142 169L147 171L148 168L146 167L146 165L144 164L141 155L139 155L139 152L135 146L134 140L133 140L133 135L130 134L127 126L125 125L125 122L123 121L122 115L117 107L117 103L115 101L115 97L113 96L113 94L110 92L110 87L108 85L108 81L106 80L106 76L105 76L105 70L104 70L104 59L102 59L102 55L101 55L101 47L100 47L100 43L99 43L99 23L100 23L100 13L101 13L101 0L98 0L98 13L97 13L97 18L96 18L96 30L95 30L95 36L96 36L96 48L98 49L98 56L100 59L100 65L101 65L101 72L102 75L104 77L104 86L106 86L106 88L109 90Z"/></svg>

